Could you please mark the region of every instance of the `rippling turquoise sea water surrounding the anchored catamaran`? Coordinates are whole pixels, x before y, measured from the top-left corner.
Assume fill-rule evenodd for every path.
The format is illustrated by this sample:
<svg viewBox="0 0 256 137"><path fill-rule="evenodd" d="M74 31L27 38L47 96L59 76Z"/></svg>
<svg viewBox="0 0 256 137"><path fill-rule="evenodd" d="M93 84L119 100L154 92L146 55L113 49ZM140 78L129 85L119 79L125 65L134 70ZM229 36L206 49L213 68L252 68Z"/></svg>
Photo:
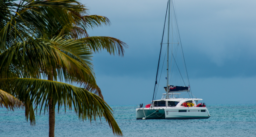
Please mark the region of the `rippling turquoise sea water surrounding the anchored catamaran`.
<svg viewBox="0 0 256 137"><path fill-rule="evenodd" d="M136 105L111 106L123 137L256 137L256 104L210 104L209 119L136 120ZM48 114L25 120L25 110L0 108L0 137L47 137ZM81 121L72 110L56 114L56 137L115 137L102 119Z"/></svg>

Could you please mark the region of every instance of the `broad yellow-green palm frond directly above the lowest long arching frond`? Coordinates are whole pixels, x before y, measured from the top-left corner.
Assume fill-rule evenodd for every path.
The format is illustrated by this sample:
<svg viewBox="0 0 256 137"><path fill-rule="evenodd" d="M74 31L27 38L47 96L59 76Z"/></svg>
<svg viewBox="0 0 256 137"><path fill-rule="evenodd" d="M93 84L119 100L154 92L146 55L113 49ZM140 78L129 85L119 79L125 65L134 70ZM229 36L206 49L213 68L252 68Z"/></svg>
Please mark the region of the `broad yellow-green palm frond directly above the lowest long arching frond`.
<svg viewBox="0 0 256 137"><path fill-rule="evenodd" d="M67 50L69 48L70 50ZM74 50L74 52L72 52ZM56 38L38 39L14 46L0 53L0 76L7 74L9 67L22 70L22 77L39 77L40 73L49 74L53 68L55 80L95 84L91 64L91 50L81 41ZM27 75L25 75L25 73Z"/></svg>

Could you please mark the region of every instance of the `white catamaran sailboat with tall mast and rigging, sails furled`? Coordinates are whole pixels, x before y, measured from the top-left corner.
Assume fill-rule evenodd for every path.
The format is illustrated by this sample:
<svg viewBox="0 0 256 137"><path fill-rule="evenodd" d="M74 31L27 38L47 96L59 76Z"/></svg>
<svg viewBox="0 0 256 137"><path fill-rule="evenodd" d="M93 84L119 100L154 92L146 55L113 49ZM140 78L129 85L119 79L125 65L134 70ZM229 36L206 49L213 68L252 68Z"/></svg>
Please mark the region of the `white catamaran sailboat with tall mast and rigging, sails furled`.
<svg viewBox="0 0 256 137"><path fill-rule="evenodd" d="M170 67L170 63L169 63L169 48L170 46L172 47L174 43L173 41L173 34L172 34L172 40L171 43L169 43L169 36L170 36L170 9L172 9L172 18L175 18L175 23L176 23L176 27L177 27L177 31L178 31L178 38L180 40L179 37L179 29L178 29L178 24L177 24L177 18L175 15L175 8L173 6L173 1L172 0L168 0L168 4L167 4L167 10L166 10L166 15L167 15L167 11L168 11L168 32L167 32L167 43L163 43L163 38L164 38L164 32L165 32L165 25L164 25L164 32L162 35L162 40L161 40L161 49L162 49L162 45L163 44L167 44L167 75L165 77L166 79L166 87L164 87L165 92L160 100L154 100L154 98L156 97L155 95L155 91L156 89L158 89L157 85L159 85L159 81L158 80L158 74L159 74L159 63L160 63L160 58L161 58L161 50L160 50L160 55L159 55L159 60L158 60L158 69L157 69L157 75L156 75L156 81L155 81L155 86L154 86L154 94L153 94L153 100L151 102L151 104L147 104L145 107L143 107L143 105L140 104L140 107L136 109L136 118L137 119L194 119L194 118L209 118L210 117L210 113L206 107L206 104L204 103L199 103L198 101L201 101L203 99L199 99L199 98L193 98L193 94L191 91L191 88L188 84L188 86L175 86L175 85L169 85L170 83L170 77L169 77L169 71L171 70ZM166 21L166 15L165 15L165 21ZM172 19L173 20L173 19ZM171 24L171 27L173 26L173 24ZM173 30L173 27L172 27ZM181 49L182 49L182 45L181 42L177 42L176 44L180 44ZM172 48L171 48L172 49ZM182 50L182 54L183 54L183 50ZM172 59L174 60L174 62L176 63L177 61L175 60L175 57L173 55L173 51L171 50L171 56ZM183 60L184 60L184 64L186 66L185 63L185 59L184 59L184 54L183 54ZM176 63L177 65L177 63ZM172 63L171 63L172 66ZM177 65L178 67L178 65ZM170 68L170 69L169 69ZM179 70L179 67L178 67ZM180 73L180 70L179 70ZM187 71L186 71L187 74ZM186 75L187 79L188 79L188 75ZM183 77L182 77L183 80ZM184 80L183 80L184 82ZM189 82L189 80L188 80ZM184 82L185 84L185 82ZM188 93L189 94L189 98L182 98L179 97L179 95L181 95L181 93ZM192 98L191 98L191 96Z"/></svg>

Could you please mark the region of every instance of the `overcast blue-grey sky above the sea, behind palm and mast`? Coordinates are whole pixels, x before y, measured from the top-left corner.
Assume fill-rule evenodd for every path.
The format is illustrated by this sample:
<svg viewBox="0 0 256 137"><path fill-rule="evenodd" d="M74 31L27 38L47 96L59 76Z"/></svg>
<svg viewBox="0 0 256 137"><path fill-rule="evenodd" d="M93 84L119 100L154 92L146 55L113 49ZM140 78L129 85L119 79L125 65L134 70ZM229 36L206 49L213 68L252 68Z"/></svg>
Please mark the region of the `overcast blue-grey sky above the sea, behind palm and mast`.
<svg viewBox="0 0 256 137"><path fill-rule="evenodd" d="M167 1L81 0L90 14L111 21L111 26L88 30L90 36L115 37L129 46L124 57L105 51L93 57L108 104L151 102ZM256 1L174 3L193 94L207 104L255 104ZM157 99L163 93L159 90Z"/></svg>

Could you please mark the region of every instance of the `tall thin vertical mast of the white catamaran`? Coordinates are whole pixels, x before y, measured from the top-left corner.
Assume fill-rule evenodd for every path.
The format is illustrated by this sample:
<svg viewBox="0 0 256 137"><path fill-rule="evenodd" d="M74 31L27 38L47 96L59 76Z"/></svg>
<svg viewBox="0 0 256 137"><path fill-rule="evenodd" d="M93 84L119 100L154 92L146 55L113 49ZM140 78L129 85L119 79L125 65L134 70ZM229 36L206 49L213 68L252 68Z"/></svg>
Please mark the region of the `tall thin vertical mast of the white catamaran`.
<svg viewBox="0 0 256 137"><path fill-rule="evenodd" d="M168 85L168 81L169 81L169 31L170 31L170 8L171 8L171 0L169 0L169 9L168 9L168 37L167 37L167 86L166 86L166 99L168 99L169 97L169 85Z"/></svg>

